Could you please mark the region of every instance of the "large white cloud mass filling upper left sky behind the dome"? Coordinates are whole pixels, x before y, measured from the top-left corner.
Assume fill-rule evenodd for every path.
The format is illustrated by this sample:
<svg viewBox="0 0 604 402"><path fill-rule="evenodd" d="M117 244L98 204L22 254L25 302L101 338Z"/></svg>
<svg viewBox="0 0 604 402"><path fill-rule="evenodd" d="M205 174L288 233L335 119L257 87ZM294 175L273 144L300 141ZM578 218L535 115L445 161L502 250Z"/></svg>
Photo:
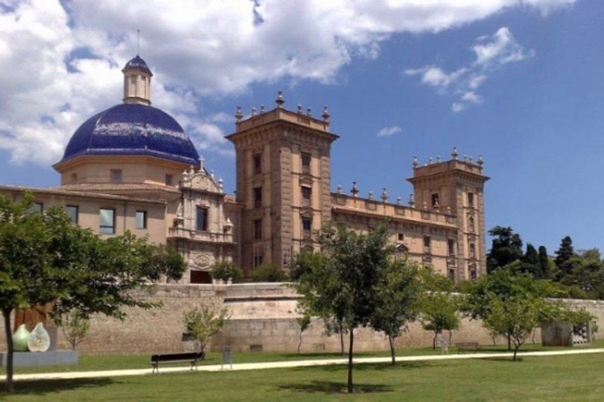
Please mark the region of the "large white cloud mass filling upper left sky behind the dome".
<svg viewBox="0 0 604 402"><path fill-rule="evenodd" d="M192 135L204 144L226 152L230 145L204 126L226 124L226 117L204 116L197 106L204 96L238 93L251 83L284 77L336 83L342 66L377 57L381 42L393 34L436 33L512 7L547 14L573 2L308 0L295 7L279 0L3 2L0 148L15 162L56 162L79 124L121 98L120 69L135 54L136 28L142 33L141 55L155 74L153 105L178 116L187 130L197 130ZM487 57L489 49L480 52ZM521 55L507 54L507 62ZM422 80L441 89L470 74L433 68L422 72Z"/></svg>

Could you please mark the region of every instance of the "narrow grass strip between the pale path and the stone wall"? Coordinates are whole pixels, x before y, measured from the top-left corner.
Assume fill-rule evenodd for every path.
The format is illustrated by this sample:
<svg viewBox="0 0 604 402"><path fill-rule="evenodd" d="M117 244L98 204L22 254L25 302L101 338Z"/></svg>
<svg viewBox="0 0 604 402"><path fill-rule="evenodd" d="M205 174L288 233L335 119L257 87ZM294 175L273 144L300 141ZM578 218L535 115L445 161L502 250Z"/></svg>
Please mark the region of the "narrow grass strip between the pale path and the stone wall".
<svg viewBox="0 0 604 402"><path fill-rule="evenodd" d="M589 347L604 347L604 340L597 341ZM524 345L521 351L536 351L536 350L562 350L563 348L547 348L541 345L528 344ZM504 345L493 347L492 345L483 345L479 352L495 352L507 351ZM429 348L399 348L397 356L424 356L430 354L440 354L440 348L433 351ZM457 353L457 350L452 347L449 353ZM465 352L471 353L471 352ZM66 371L97 371L97 370L121 370L121 369L137 369L149 368L150 354L132 354L132 355L111 355L111 354L84 354L80 356L80 362L74 366L47 366L47 367L24 367L16 368L15 374L27 374L37 372L66 372ZM390 356L389 351L376 352L359 352L355 353L355 357L379 357ZM314 359L338 359L342 356L339 353L278 353L278 352L234 352L233 363L255 363L255 362L280 362L285 360L314 360ZM210 352L202 365L220 364L221 355L219 352ZM0 374L5 374L5 369L0 367Z"/></svg>

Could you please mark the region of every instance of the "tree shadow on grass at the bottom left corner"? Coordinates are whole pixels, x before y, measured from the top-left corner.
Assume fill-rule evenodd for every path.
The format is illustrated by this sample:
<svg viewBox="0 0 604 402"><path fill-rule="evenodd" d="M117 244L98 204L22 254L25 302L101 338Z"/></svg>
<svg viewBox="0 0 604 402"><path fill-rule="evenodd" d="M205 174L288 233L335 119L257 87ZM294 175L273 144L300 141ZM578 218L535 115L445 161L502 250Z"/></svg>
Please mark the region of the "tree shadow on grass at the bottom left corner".
<svg viewBox="0 0 604 402"><path fill-rule="evenodd" d="M4 382L0 384L0 400L9 395L47 395L53 392L74 389L92 389L116 383L111 378L80 378L74 380L34 380L14 382L14 391L4 391ZM50 395L48 395L50 396Z"/></svg>

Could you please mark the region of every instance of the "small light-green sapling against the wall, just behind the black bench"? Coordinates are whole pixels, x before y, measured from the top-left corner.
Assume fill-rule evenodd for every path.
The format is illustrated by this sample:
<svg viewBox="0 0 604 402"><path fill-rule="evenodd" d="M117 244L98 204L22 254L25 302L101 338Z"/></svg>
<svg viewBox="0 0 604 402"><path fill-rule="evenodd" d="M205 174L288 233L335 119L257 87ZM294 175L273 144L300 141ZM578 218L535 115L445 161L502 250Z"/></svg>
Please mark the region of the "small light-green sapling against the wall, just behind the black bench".
<svg viewBox="0 0 604 402"><path fill-rule="evenodd" d="M213 336L222 330L228 319L226 307L220 309L216 306L202 306L201 309L186 311L182 321L184 321L188 333L195 339L198 350L205 353L205 347Z"/></svg>

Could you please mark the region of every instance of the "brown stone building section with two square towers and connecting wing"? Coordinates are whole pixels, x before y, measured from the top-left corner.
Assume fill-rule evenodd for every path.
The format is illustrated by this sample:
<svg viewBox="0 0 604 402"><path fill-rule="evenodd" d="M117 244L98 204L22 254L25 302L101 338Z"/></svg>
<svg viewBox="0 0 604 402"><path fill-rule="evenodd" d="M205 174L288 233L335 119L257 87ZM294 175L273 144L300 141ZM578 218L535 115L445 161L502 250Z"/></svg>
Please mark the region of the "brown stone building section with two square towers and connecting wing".
<svg viewBox="0 0 604 402"><path fill-rule="evenodd" d="M329 113L316 119L282 107L252 113L227 136L237 157L237 203L242 207L239 265L249 275L270 262L289 269L301 250L317 250L312 233L326 221L366 232L389 222L391 239L423 265L460 281L486 272L483 161L459 160L454 149L446 162L413 164L410 205L350 195L340 186L331 193L330 148L338 136L329 132Z"/></svg>

